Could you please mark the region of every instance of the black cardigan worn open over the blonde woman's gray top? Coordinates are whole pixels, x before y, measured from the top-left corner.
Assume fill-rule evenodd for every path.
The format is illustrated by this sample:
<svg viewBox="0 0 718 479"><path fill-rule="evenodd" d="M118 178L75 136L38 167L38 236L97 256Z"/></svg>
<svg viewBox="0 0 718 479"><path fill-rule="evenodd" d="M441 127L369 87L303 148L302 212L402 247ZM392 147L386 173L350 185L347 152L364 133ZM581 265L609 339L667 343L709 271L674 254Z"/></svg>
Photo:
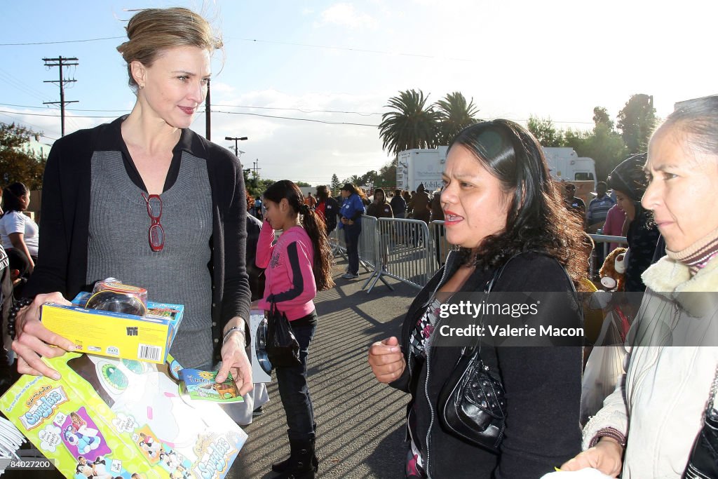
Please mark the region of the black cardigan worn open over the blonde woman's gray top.
<svg viewBox="0 0 718 479"><path fill-rule="evenodd" d="M75 131L55 141L42 181L39 256L23 295L59 291L67 299L88 290L88 228L90 224L90 160L94 152L117 151L123 118L93 129ZM246 195L239 160L227 149L190 129L182 131L177 151L206 159L212 188L212 335L220 360L223 328L239 316L248 323L250 290L245 266ZM173 161L174 163L174 161ZM174 165L173 165L174 166ZM171 180L172 170L168 173ZM176 171L174 172L176 178ZM167 184L165 185L167 187ZM248 325L246 327L247 334ZM247 336L249 337L249 336Z"/></svg>

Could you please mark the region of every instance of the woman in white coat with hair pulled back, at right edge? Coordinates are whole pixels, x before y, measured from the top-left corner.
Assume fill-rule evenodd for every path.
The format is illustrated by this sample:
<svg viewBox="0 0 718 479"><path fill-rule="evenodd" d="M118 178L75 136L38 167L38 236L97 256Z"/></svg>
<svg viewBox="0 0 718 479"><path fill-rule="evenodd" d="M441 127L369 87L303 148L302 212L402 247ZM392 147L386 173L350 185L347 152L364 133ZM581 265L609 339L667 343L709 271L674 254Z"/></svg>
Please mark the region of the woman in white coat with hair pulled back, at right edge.
<svg viewBox="0 0 718 479"><path fill-rule="evenodd" d="M667 256L643 273L625 381L561 470L680 478L703 424L718 364L718 208L708 204L718 191L718 96L676 105L653 134L645 170L641 203Z"/></svg>

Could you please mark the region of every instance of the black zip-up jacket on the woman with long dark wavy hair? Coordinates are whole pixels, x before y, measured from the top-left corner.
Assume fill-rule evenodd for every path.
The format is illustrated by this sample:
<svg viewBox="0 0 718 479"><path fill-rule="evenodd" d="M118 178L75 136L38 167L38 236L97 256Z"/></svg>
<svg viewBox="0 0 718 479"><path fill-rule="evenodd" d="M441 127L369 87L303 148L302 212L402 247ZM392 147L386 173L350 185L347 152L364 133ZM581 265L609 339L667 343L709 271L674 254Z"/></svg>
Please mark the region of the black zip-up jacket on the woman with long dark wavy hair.
<svg viewBox="0 0 718 479"><path fill-rule="evenodd" d="M449 278L458 268L457 254L447 259ZM444 268L429 281L409 307L402 327L401 345L407 359L409 335L421 317L432 293L442 284ZM475 271L462 292L481 292L493 271ZM570 292L569 279L559 264L548 256L526 253L505 267L492 292ZM561 296L563 297L563 295ZM574 327L581 325L579 304L573 294L565 296L564 307ZM564 304L564 303L562 303ZM539 308L539 313L541 308ZM571 313L572 312L572 313ZM551 324L551 317L531 317L532 325ZM445 323L444 323L445 324ZM432 478L538 478L554 472L580 452L582 348L580 346L484 347L481 357L491 371L500 373L506 394L506 429L500 454L475 447L448 434L436 417L439 391L460 358L460 348L432 347L430 377L426 366L412 364L391 386L411 393L407 408L416 404L416 440L426 461L426 433L431 427L429 475ZM414 359L412 359L414 362ZM432 403L426 399L424 386ZM433 417L433 422L432 422Z"/></svg>

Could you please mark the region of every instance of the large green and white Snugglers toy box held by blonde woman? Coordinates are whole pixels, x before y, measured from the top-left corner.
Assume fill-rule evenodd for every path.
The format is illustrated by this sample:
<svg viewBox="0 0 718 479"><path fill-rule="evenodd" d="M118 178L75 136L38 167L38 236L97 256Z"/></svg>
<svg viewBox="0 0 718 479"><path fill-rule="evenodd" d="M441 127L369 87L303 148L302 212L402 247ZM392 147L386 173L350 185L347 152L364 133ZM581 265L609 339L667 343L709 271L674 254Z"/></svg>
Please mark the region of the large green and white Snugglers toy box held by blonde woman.
<svg viewBox="0 0 718 479"><path fill-rule="evenodd" d="M62 379L22 376L0 410L67 478L224 478L247 439L218 404L180 396L176 361L45 361Z"/></svg>

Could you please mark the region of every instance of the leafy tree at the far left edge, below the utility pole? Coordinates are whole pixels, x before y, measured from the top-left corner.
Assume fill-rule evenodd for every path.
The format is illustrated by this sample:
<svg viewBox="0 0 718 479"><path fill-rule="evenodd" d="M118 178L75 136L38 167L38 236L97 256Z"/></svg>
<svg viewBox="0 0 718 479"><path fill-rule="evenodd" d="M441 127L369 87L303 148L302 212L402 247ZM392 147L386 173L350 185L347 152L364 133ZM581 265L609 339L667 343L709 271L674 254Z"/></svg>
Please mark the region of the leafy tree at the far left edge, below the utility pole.
<svg viewBox="0 0 718 479"><path fill-rule="evenodd" d="M2 185L22 182L30 190L42 187L46 159L28 148L39 133L14 123L0 123L0 178Z"/></svg>

